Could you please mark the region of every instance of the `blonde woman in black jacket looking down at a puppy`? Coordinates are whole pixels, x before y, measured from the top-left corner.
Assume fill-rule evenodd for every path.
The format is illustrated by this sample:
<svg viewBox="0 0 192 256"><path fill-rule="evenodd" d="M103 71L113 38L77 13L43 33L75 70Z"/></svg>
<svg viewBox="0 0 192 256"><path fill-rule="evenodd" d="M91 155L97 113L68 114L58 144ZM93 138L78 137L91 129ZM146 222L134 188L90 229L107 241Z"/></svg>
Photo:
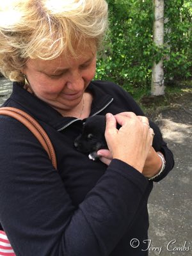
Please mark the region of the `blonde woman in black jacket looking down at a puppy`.
<svg viewBox="0 0 192 256"><path fill-rule="evenodd" d="M148 119L128 93L92 81L108 26L106 1L13 4L0 19L1 72L14 81L3 106L44 127L58 170L24 125L0 117L1 230L21 256L147 255L147 199L173 156L166 143L158 154L151 147ZM73 144L83 119L97 114L107 114L110 151L100 150L101 161L93 162ZM140 246L131 245L134 238Z"/></svg>

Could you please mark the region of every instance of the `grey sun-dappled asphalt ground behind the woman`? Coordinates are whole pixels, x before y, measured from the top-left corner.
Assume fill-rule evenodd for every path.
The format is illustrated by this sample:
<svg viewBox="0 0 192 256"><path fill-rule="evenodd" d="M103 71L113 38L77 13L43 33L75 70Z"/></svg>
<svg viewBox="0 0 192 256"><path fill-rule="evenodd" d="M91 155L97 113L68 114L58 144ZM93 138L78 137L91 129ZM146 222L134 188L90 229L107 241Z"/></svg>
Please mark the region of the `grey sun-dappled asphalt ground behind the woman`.
<svg viewBox="0 0 192 256"><path fill-rule="evenodd" d="M12 93L12 83L0 79L0 105ZM154 184L148 202L150 228L148 251L152 255L192 255L192 97L180 99L160 112L155 121L175 157L175 167ZM134 246L146 241L132 241ZM127 255L129 256L129 255Z"/></svg>

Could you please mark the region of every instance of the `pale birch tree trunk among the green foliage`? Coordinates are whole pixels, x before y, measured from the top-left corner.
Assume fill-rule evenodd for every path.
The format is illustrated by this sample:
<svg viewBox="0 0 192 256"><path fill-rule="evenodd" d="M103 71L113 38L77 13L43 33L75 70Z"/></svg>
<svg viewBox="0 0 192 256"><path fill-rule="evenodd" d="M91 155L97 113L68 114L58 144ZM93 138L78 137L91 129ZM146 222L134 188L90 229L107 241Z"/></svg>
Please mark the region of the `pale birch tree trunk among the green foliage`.
<svg viewBox="0 0 192 256"><path fill-rule="evenodd" d="M154 3L154 32L153 39L157 46L164 43L164 0L153 0ZM164 95L163 59L152 67L152 95Z"/></svg>

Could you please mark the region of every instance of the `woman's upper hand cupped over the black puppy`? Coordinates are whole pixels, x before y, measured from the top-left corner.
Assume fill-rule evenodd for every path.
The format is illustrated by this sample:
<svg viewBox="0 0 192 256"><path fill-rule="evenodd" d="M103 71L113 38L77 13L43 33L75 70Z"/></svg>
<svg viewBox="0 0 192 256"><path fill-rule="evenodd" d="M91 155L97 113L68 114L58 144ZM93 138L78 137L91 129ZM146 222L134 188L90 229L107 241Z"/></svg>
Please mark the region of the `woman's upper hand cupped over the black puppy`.
<svg viewBox="0 0 192 256"><path fill-rule="evenodd" d="M116 122L122 127L116 129ZM153 130L148 129L148 119L142 116L142 120L134 113L125 112L118 115L106 115L106 141L108 150L99 150L100 159L106 164L113 158L120 159L130 164L139 172L143 172L143 166L152 145Z"/></svg>

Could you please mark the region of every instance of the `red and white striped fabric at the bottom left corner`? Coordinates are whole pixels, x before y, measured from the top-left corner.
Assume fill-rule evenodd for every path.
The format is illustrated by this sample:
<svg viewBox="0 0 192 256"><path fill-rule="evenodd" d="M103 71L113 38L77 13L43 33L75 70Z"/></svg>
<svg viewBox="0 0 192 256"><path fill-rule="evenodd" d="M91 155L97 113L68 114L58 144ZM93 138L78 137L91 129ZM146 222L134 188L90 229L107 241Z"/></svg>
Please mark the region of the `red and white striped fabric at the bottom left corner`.
<svg viewBox="0 0 192 256"><path fill-rule="evenodd" d="M0 256L16 256L4 231L0 230Z"/></svg>

